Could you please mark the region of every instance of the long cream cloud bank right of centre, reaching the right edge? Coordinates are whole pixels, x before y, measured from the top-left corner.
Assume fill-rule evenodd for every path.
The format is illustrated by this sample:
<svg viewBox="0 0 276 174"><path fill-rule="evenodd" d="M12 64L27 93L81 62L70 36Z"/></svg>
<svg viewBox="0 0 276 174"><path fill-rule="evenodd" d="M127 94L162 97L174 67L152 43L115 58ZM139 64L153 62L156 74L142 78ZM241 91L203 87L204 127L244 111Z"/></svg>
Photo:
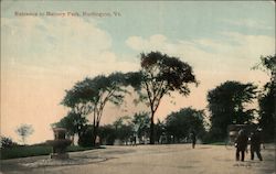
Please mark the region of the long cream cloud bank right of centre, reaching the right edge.
<svg viewBox="0 0 276 174"><path fill-rule="evenodd" d="M266 35L245 35L235 32L221 33L222 40L178 40L171 41L164 35L149 39L130 36L126 44L138 52L161 51L180 56L202 70L217 69L225 72L250 68L261 55L275 52L275 39ZM206 66L206 64L209 66ZM217 65L220 65L217 67Z"/></svg>

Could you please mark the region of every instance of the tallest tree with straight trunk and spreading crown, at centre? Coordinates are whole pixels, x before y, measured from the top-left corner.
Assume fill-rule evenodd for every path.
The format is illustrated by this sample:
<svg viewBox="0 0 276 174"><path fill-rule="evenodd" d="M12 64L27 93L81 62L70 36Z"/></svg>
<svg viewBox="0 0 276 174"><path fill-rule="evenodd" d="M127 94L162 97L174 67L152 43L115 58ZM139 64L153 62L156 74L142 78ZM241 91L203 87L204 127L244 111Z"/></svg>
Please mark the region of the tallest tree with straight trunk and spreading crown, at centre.
<svg viewBox="0 0 276 174"><path fill-rule="evenodd" d="M188 96L189 84L198 84L192 67L178 57L168 56L160 52L140 55L141 70L132 74L131 85L139 94L139 101L150 108L150 143L155 143L155 113L162 97L178 91Z"/></svg>

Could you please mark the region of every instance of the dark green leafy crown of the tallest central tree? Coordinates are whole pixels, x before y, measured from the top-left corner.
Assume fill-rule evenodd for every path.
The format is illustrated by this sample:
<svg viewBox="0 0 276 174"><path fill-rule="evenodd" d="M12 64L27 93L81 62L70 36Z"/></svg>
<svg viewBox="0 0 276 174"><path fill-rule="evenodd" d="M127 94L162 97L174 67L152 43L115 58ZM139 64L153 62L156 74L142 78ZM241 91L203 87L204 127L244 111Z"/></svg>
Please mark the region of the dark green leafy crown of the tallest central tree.
<svg viewBox="0 0 276 174"><path fill-rule="evenodd" d="M190 90L187 84L197 83L189 64L160 52L142 53L141 68L144 78L152 85L152 90L162 88L166 94L178 90L182 95L188 95Z"/></svg>

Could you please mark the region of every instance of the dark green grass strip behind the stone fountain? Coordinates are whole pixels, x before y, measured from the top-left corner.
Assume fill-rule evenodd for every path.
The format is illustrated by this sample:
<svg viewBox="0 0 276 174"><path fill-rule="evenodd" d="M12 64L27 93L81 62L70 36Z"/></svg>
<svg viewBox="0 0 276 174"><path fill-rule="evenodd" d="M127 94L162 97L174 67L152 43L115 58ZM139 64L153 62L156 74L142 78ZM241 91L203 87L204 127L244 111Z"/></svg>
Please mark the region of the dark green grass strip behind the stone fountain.
<svg viewBox="0 0 276 174"><path fill-rule="evenodd" d="M67 152L86 151L95 148L82 148L82 146L68 146ZM26 145L26 146L13 146L0 150L0 159L18 159L38 155L47 155L52 153L52 146L49 145Z"/></svg>

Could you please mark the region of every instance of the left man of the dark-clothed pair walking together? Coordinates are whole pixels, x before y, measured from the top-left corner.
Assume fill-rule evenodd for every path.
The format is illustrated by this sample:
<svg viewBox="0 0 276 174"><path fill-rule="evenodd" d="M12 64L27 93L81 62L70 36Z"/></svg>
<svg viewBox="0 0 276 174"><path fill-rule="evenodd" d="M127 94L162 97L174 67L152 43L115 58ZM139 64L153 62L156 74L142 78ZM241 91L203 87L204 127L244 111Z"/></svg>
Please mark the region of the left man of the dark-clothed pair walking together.
<svg viewBox="0 0 276 174"><path fill-rule="evenodd" d="M240 130L236 141L235 141L236 161L240 161L240 153L242 153L241 161L244 161L244 152L247 149L247 141L248 141L248 137L246 135L246 132L243 129Z"/></svg>

